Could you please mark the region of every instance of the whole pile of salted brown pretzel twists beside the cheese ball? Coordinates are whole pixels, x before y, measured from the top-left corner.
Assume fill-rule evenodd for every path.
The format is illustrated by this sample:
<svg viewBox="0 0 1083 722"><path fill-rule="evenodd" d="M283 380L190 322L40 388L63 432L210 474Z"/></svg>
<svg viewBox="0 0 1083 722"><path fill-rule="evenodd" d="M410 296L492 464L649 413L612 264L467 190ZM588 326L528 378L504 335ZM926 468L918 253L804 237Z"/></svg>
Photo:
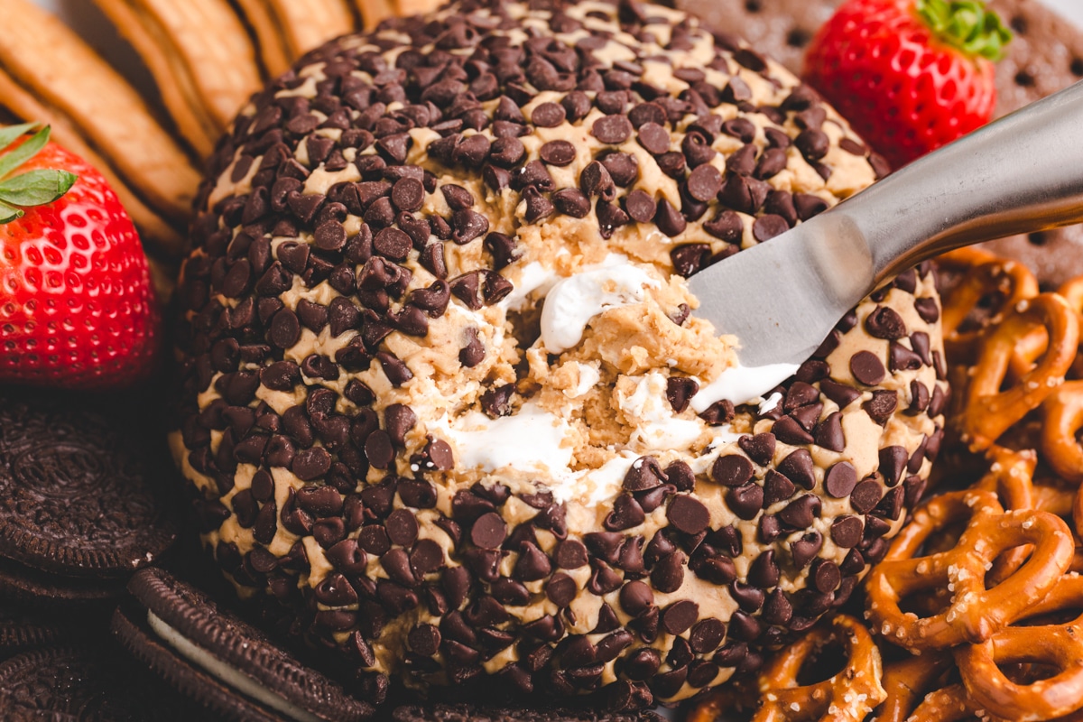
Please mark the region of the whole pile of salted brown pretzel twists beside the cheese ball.
<svg viewBox="0 0 1083 722"><path fill-rule="evenodd" d="M940 265L954 396L935 496L866 577L863 621L825 620L688 722L1083 720L1083 278L1040 292L974 249ZM803 680L828 651L837 673Z"/></svg>

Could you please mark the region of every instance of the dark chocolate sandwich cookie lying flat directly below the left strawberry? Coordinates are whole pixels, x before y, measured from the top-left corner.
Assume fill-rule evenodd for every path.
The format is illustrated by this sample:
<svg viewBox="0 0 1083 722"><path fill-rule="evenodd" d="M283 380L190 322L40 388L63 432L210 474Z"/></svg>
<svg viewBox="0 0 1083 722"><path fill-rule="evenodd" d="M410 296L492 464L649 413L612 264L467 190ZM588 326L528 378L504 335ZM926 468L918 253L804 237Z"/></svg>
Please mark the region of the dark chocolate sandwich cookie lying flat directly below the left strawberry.
<svg viewBox="0 0 1083 722"><path fill-rule="evenodd" d="M168 478L144 436L89 403L0 407L0 596L106 602L173 543Z"/></svg>

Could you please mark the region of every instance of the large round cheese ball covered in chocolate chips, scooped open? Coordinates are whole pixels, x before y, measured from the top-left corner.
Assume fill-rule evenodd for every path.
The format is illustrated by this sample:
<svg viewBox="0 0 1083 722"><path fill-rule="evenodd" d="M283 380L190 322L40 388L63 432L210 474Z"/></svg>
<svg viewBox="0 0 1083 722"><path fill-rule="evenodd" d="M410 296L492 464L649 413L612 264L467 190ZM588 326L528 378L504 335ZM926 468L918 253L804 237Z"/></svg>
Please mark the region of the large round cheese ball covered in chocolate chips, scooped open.
<svg viewBox="0 0 1083 722"><path fill-rule="evenodd" d="M778 386L691 315L687 276L878 163L683 13L389 21L274 81L211 165L172 448L242 594L369 693L689 697L845 602L922 491L928 268Z"/></svg>

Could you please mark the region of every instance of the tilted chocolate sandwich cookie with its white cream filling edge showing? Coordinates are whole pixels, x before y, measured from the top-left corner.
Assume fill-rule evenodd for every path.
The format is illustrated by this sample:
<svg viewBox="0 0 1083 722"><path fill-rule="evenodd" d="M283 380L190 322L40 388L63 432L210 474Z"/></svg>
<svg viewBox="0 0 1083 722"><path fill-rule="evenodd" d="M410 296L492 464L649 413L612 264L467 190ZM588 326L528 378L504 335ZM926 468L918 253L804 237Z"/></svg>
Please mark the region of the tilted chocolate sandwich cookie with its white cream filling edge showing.
<svg viewBox="0 0 1083 722"><path fill-rule="evenodd" d="M113 632L172 687L238 722L369 719L375 710L198 589L158 568L132 577Z"/></svg>

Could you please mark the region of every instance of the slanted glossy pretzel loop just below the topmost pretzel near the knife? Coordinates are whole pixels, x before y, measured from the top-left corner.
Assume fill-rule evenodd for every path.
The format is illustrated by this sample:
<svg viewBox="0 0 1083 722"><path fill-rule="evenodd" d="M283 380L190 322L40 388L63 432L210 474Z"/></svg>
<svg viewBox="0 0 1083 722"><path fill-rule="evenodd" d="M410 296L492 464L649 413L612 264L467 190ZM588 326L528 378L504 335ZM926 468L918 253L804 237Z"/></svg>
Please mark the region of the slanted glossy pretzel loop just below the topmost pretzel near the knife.
<svg viewBox="0 0 1083 722"><path fill-rule="evenodd" d="M1048 334L1046 351L1012 388L1001 391L1020 339L1035 328ZM974 369L962 426L973 450L989 448L1005 431L1036 408L1064 381L1075 358L1079 319L1064 298L1042 293L1019 305L984 337Z"/></svg>

